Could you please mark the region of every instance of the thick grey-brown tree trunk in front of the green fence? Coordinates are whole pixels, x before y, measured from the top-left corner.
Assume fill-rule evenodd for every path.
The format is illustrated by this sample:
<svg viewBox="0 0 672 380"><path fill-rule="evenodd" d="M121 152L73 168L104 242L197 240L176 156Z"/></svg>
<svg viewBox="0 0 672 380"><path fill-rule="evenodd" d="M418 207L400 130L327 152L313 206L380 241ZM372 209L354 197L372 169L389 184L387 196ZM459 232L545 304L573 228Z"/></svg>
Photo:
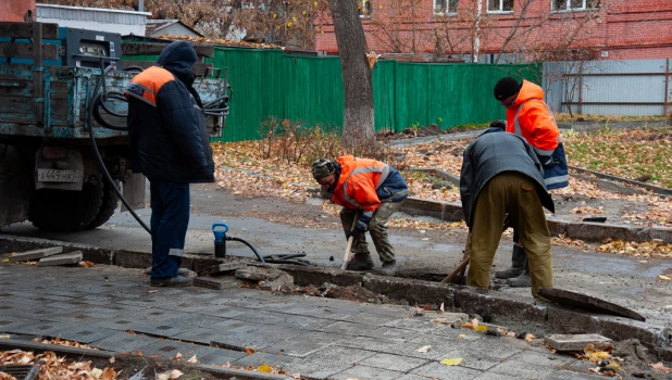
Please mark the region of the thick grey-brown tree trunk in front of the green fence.
<svg viewBox="0 0 672 380"><path fill-rule="evenodd" d="M345 92L344 142L373 139L373 86L357 0L329 0Z"/></svg>

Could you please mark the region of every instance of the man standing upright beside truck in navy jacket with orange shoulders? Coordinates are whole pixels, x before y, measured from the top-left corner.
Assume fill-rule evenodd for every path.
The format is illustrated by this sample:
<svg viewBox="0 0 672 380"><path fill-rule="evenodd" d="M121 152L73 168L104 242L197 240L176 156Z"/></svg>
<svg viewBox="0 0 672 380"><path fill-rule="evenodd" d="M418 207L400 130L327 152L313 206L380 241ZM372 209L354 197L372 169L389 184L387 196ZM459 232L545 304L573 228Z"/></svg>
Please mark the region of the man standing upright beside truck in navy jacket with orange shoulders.
<svg viewBox="0 0 672 380"><path fill-rule="evenodd" d="M186 269L179 269L189 225L189 183L214 181L203 104L192 87L196 62L191 45L172 42L126 90L130 167L150 183L154 287L191 284Z"/></svg>

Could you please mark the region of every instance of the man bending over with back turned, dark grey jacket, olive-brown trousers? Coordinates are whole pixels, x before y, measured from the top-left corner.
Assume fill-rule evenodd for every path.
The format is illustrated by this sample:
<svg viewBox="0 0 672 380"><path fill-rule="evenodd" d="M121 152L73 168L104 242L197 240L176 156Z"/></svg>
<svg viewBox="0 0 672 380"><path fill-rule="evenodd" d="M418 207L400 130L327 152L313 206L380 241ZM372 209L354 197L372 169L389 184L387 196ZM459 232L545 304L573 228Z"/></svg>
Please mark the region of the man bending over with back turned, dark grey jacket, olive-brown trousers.
<svg viewBox="0 0 672 380"><path fill-rule="evenodd" d="M460 197L469 227L466 284L490 286L490 268L508 218L530 259L532 295L552 288L550 233L542 206L553 212L542 164L525 140L489 128L464 150Z"/></svg>

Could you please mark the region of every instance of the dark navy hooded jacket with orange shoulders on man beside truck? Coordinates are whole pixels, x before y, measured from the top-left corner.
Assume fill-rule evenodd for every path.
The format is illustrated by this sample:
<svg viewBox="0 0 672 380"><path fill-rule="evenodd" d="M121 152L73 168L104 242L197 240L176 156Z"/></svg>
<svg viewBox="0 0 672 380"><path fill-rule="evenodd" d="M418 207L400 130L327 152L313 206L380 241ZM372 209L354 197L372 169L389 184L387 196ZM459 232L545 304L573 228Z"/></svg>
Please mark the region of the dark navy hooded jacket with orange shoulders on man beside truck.
<svg viewBox="0 0 672 380"><path fill-rule="evenodd" d="M191 87L197 61L188 42L173 42L126 90L130 167L149 180L214 181L206 114Z"/></svg>

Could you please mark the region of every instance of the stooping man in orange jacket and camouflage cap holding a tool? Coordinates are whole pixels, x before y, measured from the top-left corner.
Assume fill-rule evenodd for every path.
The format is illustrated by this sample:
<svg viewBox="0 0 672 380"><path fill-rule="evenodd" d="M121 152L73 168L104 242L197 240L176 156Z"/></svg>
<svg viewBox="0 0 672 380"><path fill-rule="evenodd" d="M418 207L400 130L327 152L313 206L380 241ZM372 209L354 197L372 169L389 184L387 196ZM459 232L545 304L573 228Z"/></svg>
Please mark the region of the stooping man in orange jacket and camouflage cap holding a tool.
<svg viewBox="0 0 672 380"><path fill-rule="evenodd" d="M346 239L353 237L354 255L346 269L368 270L373 268L373 259L364 232L371 233L371 240L378 253L383 267L381 273L394 276L397 271L395 249L387 238L389 217L399 210L401 202L409 195L408 186L401 174L389 165L368 159L356 159L347 154L328 161L320 159L312 163L313 177L322 186L323 192L331 194L334 203L343 206L340 223ZM354 229L351 229L357 219Z"/></svg>

